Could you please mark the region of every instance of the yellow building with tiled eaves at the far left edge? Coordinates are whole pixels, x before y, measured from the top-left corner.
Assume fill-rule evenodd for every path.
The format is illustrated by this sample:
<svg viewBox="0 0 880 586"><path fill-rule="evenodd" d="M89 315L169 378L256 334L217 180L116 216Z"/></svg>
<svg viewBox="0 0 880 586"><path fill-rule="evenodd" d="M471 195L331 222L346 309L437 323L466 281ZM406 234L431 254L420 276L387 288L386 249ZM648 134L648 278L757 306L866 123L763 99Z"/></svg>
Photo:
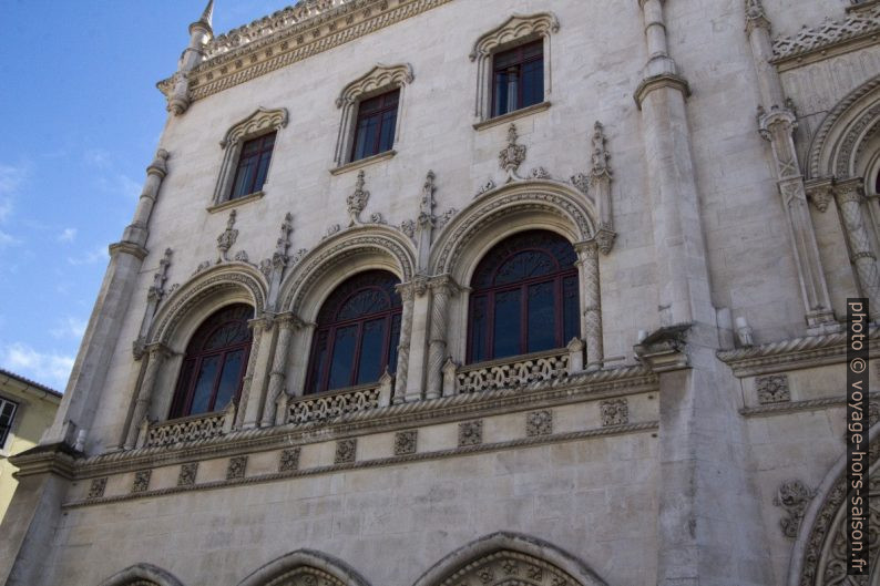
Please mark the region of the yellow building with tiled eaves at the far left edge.
<svg viewBox="0 0 880 586"><path fill-rule="evenodd" d="M52 424L61 398L14 376L0 373L0 398L18 403L12 430L0 445L0 521L6 515L18 481L12 477L16 466L9 456L30 450Z"/></svg>

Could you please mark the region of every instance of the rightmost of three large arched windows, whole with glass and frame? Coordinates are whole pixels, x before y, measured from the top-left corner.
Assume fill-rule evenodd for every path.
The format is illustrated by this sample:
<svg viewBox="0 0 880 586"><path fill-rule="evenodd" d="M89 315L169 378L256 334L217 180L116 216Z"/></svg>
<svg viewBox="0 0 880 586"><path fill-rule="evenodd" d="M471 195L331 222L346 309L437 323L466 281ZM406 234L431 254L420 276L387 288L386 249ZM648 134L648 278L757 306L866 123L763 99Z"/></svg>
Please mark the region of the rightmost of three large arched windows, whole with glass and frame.
<svg viewBox="0 0 880 586"><path fill-rule="evenodd" d="M562 348L579 335L577 255L529 230L495 245L471 279L468 362Z"/></svg>

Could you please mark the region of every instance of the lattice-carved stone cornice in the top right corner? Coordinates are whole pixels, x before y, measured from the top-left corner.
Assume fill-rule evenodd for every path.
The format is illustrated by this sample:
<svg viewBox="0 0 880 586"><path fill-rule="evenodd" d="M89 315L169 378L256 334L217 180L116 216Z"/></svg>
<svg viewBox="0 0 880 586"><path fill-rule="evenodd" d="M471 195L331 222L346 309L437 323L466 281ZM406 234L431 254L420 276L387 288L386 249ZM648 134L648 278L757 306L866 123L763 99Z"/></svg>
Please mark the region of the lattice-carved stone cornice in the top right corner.
<svg viewBox="0 0 880 586"><path fill-rule="evenodd" d="M774 40L772 63L781 71L855 51L877 42L880 4L848 11L842 20L804 28L797 34Z"/></svg>

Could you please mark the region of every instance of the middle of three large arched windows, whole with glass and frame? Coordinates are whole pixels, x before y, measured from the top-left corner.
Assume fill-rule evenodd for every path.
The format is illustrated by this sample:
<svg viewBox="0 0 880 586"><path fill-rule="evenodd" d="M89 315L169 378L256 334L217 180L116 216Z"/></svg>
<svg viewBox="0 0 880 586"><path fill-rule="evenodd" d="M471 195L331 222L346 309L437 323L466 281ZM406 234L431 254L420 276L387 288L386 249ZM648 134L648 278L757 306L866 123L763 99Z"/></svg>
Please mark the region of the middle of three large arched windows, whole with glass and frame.
<svg viewBox="0 0 880 586"><path fill-rule="evenodd" d="M400 338L400 281L369 270L342 282L318 313L307 393L376 382L393 372Z"/></svg>

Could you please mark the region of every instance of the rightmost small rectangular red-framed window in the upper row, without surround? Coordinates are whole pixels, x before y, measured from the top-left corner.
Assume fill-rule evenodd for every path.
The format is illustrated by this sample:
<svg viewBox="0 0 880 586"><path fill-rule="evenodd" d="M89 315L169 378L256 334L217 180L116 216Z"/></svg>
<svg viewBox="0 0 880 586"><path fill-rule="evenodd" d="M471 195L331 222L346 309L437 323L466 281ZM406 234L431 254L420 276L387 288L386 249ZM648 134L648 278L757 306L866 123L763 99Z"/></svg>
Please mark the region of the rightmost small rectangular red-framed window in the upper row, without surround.
<svg viewBox="0 0 880 586"><path fill-rule="evenodd" d="M492 115L544 101L544 42L535 41L494 55Z"/></svg>

